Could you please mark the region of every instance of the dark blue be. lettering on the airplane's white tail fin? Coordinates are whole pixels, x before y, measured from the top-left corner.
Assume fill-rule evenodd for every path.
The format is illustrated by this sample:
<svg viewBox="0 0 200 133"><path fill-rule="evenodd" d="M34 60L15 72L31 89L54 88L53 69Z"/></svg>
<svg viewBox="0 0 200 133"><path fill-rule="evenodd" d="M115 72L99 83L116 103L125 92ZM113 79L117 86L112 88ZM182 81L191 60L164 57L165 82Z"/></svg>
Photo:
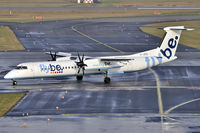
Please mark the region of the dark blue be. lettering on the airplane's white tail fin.
<svg viewBox="0 0 200 133"><path fill-rule="evenodd" d="M175 39L174 38L169 39L169 41L168 41L169 48L166 48L165 50L162 50L162 49L160 50L160 52L168 59L170 59L170 57L172 56L171 49L176 48L177 40L178 40L178 36L176 36Z"/></svg>

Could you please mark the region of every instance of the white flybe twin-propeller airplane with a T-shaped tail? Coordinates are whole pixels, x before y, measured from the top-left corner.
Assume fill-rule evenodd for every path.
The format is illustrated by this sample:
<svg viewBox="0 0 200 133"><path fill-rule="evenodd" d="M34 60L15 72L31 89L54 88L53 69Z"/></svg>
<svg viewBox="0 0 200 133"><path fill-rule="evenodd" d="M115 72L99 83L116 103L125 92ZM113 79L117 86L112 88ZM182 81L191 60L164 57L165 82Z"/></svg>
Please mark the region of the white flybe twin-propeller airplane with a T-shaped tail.
<svg viewBox="0 0 200 133"><path fill-rule="evenodd" d="M104 74L104 82L110 83L109 74L133 72L143 70L177 59L175 56L182 30L193 30L184 26L165 27L163 40L155 49L132 55L123 56L72 56L70 53L52 53L51 61L21 63L10 72L4 79L13 81L33 78L58 78L76 76L82 80L84 75Z"/></svg>

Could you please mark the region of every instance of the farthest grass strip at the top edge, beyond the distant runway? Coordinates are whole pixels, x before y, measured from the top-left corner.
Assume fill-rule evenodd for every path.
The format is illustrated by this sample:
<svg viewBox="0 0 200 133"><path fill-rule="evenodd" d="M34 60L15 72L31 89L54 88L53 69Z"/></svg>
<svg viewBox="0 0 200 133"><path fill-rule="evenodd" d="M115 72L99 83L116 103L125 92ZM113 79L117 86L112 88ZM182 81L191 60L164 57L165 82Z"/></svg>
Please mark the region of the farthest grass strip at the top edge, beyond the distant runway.
<svg viewBox="0 0 200 133"><path fill-rule="evenodd" d="M0 0L2 7L65 7L65 6L140 6L180 7L200 6L199 0L98 0L97 4L77 4L77 0Z"/></svg>

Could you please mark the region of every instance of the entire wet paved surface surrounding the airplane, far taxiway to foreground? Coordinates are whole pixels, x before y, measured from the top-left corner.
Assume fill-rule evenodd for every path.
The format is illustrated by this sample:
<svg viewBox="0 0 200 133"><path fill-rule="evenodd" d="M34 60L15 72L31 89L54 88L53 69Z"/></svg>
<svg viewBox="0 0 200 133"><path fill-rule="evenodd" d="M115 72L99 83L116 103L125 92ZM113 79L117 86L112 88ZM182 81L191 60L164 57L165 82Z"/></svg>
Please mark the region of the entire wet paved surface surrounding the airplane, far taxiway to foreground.
<svg viewBox="0 0 200 133"><path fill-rule="evenodd" d="M144 24L199 20L199 16L133 17L8 25L24 51L0 52L0 93L29 91L6 117L2 132L198 132L199 50L180 44L178 59L144 71L67 79L4 80L4 71L21 62L46 61L46 51L77 51L89 56L122 55L156 48L160 39L143 33ZM77 31L78 32L77 32ZM33 43L35 41L35 43ZM67 94L66 94L67 91ZM62 98L64 96L64 99ZM56 109L59 107L59 109ZM22 117L22 114L29 117ZM50 123L46 119L50 118ZM5 126L10 124L9 129ZM27 123L27 128L23 128ZM67 125L67 126L66 126ZM52 128L55 126L56 128ZM7 127L7 128L6 128ZM76 128L79 127L79 128ZM111 127L111 128L110 128Z"/></svg>

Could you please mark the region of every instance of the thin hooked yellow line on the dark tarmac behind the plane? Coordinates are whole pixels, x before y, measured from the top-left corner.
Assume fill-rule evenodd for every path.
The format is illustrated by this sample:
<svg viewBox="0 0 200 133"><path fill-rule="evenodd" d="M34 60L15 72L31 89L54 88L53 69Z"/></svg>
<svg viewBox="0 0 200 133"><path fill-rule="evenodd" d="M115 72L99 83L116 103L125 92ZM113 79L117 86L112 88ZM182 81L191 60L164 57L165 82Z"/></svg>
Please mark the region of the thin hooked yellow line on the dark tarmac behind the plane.
<svg viewBox="0 0 200 133"><path fill-rule="evenodd" d="M87 24L87 23L84 23L84 24ZM100 41L98 41L98 40L92 38L91 36L89 36L89 35L87 35L87 34L81 32L81 31L79 31L79 30L77 30L77 29L75 28L75 27L78 26L78 25L84 25L84 24L77 24L77 25L74 25L74 26L71 27L71 29L72 29L73 31L79 33L80 35L82 35L82 36L84 36L84 37L87 37L88 39L90 39L90 40L92 40L92 41L94 41L94 42L96 42L96 43L98 43L98 44L104 45L104 46L106 46L106 47L108 47L108 48L110 48L110 49L112 49L112 50L114 50L114 51L116 51L116 52L122 53L121 50L116 49L116 48L113 48L113 47L107 45L106 43L100 42Z"/></svg>

